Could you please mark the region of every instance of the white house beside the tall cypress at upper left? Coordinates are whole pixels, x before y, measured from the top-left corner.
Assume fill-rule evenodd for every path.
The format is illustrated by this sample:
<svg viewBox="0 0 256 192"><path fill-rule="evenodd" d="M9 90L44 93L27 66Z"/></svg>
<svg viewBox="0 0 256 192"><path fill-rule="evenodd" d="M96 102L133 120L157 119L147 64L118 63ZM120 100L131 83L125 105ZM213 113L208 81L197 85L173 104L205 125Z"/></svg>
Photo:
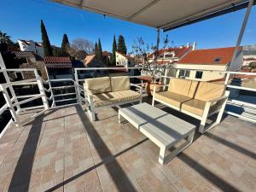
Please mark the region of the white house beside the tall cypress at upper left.
<svg viewBox="0 0 256 192"><path fill-rule="evenodd" d="M32 40L26 41L18 39L21 51L33 51L36 54L44 57L44 47L42 43L34 42Z"/></svg>

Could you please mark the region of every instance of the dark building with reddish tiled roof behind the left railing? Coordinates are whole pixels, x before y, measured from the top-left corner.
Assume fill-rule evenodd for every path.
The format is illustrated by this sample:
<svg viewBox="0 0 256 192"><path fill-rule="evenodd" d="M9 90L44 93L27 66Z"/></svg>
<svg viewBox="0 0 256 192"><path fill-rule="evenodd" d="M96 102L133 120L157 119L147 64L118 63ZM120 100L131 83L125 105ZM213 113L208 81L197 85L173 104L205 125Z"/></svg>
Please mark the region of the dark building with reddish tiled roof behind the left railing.
<svg viewBox="0 0 256 192"><path fill-rule="evenodd" d="M49 79L73 79L72 61L69 57L46 56L44 64Z"/></svg>

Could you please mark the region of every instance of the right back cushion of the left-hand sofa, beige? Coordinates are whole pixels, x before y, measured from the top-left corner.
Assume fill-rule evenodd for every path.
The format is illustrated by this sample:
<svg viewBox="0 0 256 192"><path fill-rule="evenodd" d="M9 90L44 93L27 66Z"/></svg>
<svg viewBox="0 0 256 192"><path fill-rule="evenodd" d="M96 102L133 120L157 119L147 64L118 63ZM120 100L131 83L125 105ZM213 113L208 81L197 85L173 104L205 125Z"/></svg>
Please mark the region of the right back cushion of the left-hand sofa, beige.
<svg viewBox="0 0 256 192"><path fill-rule="evenodd" d="M111 84L112 91L130 90L129 76L111 77L110 84Z"/></svg>

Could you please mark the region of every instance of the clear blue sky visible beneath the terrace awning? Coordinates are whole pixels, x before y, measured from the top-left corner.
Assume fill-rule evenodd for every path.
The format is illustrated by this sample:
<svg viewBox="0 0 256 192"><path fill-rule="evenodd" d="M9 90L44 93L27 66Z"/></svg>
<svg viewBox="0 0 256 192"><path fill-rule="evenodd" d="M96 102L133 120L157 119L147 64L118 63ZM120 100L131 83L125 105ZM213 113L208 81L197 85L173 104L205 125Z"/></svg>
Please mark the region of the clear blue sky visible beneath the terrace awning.
<svg viewBox="0 0 256 192"><path fill-rule="evenodd" d="M102 49L111 51L113 34L122 34L128 50L137 37L147 43L155 43L156 30L124 20L116 20L84 10L52 3L47 0L1 0L0 30L7 32L14 41L18 38L41 41L40 20L44 20L51 44L60 46L63 33L70 41L87 38L93 43L101 38ZM198 49L234 46L241 27L245 9L184 26L168 34L174 45L193 43ZM242 44L256 44L256 7L247 24ZM161 34L161 39L165 34Z"/></svg>

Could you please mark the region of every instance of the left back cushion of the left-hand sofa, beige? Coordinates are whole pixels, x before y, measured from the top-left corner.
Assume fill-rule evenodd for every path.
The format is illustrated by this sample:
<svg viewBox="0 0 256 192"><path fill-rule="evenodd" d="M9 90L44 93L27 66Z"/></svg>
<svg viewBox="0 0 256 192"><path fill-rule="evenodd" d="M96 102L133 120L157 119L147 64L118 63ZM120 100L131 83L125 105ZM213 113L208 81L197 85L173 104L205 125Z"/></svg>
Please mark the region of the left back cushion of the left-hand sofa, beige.
<svg viewBox="0 0 256 192"><path fill-rule="evenodd" d="M92 94L105 93L111 91L109 77L85 79L84 87L85 89L90 90Z"/></svg>

